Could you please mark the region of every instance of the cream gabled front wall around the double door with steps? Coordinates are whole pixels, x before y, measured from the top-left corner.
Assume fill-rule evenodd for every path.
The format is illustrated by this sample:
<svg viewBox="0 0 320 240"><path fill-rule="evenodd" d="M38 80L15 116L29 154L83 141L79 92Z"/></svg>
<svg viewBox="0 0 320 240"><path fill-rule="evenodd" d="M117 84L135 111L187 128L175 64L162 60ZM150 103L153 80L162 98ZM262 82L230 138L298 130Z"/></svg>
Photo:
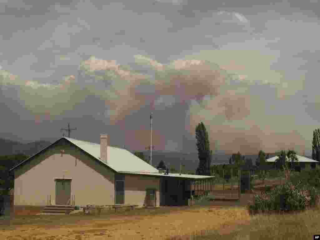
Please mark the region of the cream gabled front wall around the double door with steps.
<svg viewBox="0 0 320 240"><path fill-rule="evenodd" d="M47 205L48 196L55 204L55 178L72 178L76 205L114 204L114 172L62 141L15 171L14 204Z"/></svg>

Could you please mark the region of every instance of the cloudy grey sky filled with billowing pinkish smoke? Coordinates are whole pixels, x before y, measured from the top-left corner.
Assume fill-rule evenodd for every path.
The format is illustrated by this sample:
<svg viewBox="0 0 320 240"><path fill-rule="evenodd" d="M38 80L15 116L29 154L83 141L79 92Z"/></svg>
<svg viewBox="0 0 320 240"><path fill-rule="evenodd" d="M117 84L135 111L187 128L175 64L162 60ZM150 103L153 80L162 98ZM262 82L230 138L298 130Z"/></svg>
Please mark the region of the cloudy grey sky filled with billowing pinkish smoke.
<svg viewBox="0 0 320 240"><path fill-rule="evenodd" d="M311 154L320 4L0 0L0 137Z"/></svg>

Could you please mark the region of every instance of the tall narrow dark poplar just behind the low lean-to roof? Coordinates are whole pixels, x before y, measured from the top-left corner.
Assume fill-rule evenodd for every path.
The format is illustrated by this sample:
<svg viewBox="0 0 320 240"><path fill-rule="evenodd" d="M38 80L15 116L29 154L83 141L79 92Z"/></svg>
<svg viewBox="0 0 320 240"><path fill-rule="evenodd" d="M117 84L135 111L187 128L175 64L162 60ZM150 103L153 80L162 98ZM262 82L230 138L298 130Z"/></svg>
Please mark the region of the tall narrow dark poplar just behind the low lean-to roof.
<svg viewBox="0 0 320 240"><path fill-rule="evenodd" d="M212 150L210 150L210 142L208 132L203 124L196 126L196 146L198 149L199 165L196 169L198 175L210 176L210 165L212 161Z"/></svg>

